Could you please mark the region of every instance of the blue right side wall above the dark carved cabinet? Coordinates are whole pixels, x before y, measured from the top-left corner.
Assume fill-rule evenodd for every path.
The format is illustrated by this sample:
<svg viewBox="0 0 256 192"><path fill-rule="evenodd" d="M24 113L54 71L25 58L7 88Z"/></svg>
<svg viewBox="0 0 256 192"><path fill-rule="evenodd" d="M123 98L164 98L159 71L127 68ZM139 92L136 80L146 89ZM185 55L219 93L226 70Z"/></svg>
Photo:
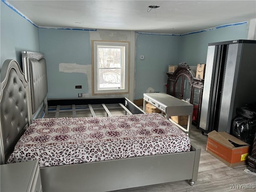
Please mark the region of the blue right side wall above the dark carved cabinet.
<svg viewBox="0 0 256 192"><path fill-rule="evenodd" d="M247 39L248 30L249 24L246 23L184 35L181 38L179 62L186 62L190 66L206 63L208 43Z"/></svg>

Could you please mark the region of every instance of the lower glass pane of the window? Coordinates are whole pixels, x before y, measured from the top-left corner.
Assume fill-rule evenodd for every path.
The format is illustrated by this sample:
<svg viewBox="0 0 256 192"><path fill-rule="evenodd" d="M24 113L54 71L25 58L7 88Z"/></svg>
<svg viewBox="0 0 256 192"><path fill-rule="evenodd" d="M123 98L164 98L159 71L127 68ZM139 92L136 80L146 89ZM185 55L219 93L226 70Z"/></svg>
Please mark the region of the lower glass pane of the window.
<svg viewBox="0 0 256 192"><path fill-rule="evenodd" d="M122 89L121 69L99 69L99 89Z"/></svg>

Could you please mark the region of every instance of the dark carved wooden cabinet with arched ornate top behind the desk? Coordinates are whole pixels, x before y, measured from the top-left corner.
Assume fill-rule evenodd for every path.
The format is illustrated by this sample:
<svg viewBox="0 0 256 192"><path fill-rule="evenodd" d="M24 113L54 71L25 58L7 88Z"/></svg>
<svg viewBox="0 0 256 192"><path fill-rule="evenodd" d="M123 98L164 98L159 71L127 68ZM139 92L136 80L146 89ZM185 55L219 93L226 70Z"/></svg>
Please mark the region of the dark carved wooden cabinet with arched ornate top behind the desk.
<svg viewBox="0 0 256 192"><path fill-rule="evenodd" d="M178 64L173 73L166 74L166 93L194 105L192 123L199 128L204 80L195 78L195 72L185 62Z"/></svg>

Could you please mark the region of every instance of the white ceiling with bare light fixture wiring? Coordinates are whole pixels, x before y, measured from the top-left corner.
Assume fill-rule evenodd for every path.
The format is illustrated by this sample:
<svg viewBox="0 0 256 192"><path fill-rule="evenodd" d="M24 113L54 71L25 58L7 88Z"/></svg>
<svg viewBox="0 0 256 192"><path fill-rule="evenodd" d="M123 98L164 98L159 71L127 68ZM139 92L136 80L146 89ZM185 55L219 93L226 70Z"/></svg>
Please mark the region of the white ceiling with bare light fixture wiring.
<svg viewBox="0 0 256 192"><path fill-rule="evenodd" d="M186 34L256 18L256 0L6 0L6 2L37 26L57 28ZM150 10L148 6L151 5L160 7Z"/></svg>

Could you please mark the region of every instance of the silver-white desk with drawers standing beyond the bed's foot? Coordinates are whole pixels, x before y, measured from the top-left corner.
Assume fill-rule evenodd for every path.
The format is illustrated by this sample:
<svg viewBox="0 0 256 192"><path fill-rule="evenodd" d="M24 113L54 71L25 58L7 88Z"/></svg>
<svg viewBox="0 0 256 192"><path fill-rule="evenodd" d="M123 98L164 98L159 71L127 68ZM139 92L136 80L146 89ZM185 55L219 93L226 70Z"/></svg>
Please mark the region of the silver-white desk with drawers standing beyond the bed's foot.
<svg viewBox="0 0 256 192"><path fill-rule="evenodd" d="M146 112L146 103L150 103L166 114L166 119L170 120L173 124L182 129L188 136L190 136L193 105L182 101L178 98L170 96L166 93L144 93L143 110ZM184 128L170 119L170 116L183 116L188 115L188 125Z"/></svg>

